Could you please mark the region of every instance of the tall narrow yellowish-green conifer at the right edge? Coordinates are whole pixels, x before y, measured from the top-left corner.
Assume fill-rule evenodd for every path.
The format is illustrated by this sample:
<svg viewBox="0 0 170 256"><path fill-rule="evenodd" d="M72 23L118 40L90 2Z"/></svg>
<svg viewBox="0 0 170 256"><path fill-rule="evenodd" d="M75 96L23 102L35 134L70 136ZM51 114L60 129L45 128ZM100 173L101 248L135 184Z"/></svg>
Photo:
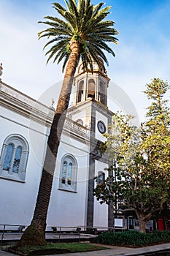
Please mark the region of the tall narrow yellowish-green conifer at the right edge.
<svg viewBox="0 0 170 256"><path fill-rule="evenodd" d="M148 162L152 170L160 175L170 170L170 109L165 94L170 86L159 78L152 79L147 84L144 94L152 100L147 108L147 121L144 123L142 148L148 155Z"/></svg>

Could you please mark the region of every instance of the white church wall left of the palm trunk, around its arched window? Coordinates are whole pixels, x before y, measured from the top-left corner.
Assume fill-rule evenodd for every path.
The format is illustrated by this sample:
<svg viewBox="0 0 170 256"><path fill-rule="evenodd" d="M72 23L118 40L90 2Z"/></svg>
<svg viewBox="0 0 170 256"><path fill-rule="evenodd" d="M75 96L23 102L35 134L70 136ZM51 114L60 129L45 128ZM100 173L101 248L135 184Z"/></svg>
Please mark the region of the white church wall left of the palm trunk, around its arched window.
<svg viewBox="0 0 170 256"><path fill-rule="evenodd" d="M40 124L35 127L28 118L18 113L1 108L1 114L4 117L1 117L0 152L9 135L21 135L28 142L29 150L23 182L12 180L12 175L10 179L0 178L0 224L28 225L34 213L47 136L42 134L43 127Z"/></svg>

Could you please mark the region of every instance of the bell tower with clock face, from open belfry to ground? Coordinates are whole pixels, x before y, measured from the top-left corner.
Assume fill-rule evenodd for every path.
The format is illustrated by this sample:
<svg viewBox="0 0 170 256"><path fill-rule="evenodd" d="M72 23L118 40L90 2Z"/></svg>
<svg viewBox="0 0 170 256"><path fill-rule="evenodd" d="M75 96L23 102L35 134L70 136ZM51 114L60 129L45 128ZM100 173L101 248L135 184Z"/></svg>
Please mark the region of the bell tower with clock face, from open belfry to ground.
<svg viewBox="0 0 170 256"><path fill-rule="evenodd" d="M107 107L107 88L109 86L109 77L102 60L101 66L93 62L93 73L84 71L82 63L77 69L77 75L74 76L74 103L68 110L68 116L73 121L89 129L89 166L88 166L88 198L87 198L87 222L88 227L100 225L96 223L96 216L104 214L98 212L98 206L93 196L94 177L98 176L98 168L104 170L111 163L107 156L101 154L100 145L106 140L103 136L108 132L108 126L112 122L113 113ZM102 208L103 206L101 206ZM106 206L107 207L107 206ZM106 209L105 209L106 213ZM105 224L113 227L112 206L108 207L108 218Z"/></svg>

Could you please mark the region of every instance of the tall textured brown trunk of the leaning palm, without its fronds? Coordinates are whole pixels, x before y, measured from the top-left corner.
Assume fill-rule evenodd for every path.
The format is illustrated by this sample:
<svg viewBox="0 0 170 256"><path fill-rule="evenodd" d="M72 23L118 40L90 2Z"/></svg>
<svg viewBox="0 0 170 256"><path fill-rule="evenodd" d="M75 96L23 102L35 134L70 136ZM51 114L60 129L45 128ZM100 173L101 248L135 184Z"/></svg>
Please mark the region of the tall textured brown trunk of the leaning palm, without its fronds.
<svg viewBox="0 0 170 256"><path fill-rule="evenodd" d="M42 178L39 184L39 192L36 199L34 217L31 221L31 225L27 227L20 241L18 241L18 244L13 247L15 251L18 251L22 246L45 244L47 210L50 203L55 162L58 153L58 146L61 140L61 132L63 130L63 124L66 118L66 110L69 106L74 74L77 68L77 64L80 60L80 42L72 42L72 45L70 45L70 50L71 54L63 78L61 94L58 99L58 105L55 110L53 124L51 126L50 135L47 140L45 162L42 170Z"/></svg>

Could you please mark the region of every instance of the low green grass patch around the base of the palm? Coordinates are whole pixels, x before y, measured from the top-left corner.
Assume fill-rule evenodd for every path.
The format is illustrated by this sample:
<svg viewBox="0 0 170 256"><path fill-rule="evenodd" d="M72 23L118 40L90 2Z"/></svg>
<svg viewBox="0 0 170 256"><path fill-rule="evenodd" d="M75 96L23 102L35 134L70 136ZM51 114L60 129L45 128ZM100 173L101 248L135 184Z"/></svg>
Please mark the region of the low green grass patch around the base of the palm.
<svg viewBox="0 0 170 256"><path fill-rule="evenodd" d="M12 250L12 246L7 249L8 252L15 253L17 255L53 255L69 252L90 252L101 249L108 249L104 246L96 246L93 244L85 243L59 243L59 244L47 244L45 246L24 246L20 248L18 252Z"/></svg>

